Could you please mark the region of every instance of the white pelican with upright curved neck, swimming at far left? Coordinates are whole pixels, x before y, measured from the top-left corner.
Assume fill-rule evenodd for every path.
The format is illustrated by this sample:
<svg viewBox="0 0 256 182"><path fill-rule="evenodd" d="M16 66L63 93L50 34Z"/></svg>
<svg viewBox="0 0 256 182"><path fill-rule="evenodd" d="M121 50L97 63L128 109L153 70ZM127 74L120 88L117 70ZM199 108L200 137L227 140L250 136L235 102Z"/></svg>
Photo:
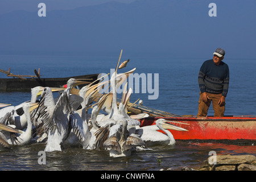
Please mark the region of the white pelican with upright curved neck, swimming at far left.
<svg viewBox="0 0 256 182"><path fill-rule="evenodd" d="M23 131L21 134L15 134L15 136L11 135L9 132L3 133L7 139L9 144L23 146L28 144L31 140L31 133L32 133L32 122L30 118L30 103L25 103L23 107L24 115L27 118L27 128L26 131Z"/></svg>

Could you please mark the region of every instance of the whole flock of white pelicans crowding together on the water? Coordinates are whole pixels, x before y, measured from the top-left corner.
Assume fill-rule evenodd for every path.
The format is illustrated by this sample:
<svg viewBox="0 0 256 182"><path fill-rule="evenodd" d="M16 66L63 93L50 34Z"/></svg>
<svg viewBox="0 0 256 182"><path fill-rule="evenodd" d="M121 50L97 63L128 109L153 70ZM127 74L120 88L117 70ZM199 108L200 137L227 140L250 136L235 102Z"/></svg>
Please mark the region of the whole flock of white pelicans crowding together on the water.
<svg viewBox="0 0 256 182"><path fill-rule="evenodd" d="M108 150L113 157L128 156L133 150L146 150L150 144L174 145L175 139L167 129L187 130L164 119L158 119L156 125L140 127L138 119L148 117L148 114L127 114L131 96L127 84L121 102L117 103L117 88L134 71L117 74L116 68L110 79L112 91L100 94L100 97L99 88L106 84L101 78L97 84L96 81L88 84L71 78L67 88L32 88L30 101L0 110L0 151L29 144L32 139L45 143L46 152L82 146L85 150ZM88 85L80 90L75 88L85 83ZM59 92L59 96L54 98L53 92ZM37 100L39 96L40 100ZM92 109L90 114L89 109Z"/></svg>

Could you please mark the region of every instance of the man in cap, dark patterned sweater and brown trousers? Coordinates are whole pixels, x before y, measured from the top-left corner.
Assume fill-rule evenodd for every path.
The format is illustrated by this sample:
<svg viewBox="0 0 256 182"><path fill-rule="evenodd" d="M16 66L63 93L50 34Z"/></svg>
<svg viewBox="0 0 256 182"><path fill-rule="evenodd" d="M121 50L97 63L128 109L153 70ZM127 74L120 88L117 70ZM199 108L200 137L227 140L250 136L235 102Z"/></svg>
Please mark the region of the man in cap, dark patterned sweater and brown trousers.
<svg viewBox="0 0 256 182"><path fill-rule="evenodd" d="M229 67L222 60L225 51L217 48L213 59L204 61L200 68L198 83L200 88L199 111L197 117L207 116L212 102L214 117L223 117L225 98L229 88Z"/></svg>

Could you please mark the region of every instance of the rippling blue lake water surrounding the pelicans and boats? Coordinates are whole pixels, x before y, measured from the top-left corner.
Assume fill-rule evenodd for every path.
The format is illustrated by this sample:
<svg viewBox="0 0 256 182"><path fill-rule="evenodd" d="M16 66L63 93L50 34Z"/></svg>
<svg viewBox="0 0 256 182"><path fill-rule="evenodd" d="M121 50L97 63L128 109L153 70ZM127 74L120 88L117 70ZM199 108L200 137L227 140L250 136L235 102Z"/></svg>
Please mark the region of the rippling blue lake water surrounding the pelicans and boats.
<svg viewBox="0 0 256 182"><path fill-rule="evenodd" d="M42 77L70 77L93 73L110 73L114 69L117 55L102 56L10 56L0 55L0 69L8 70L17 75L34 75L34 69L40 68ZM159 91L155 100L148 90L131 95L131 101L138 98L143 105L184 115L197 114L199 86L197 76L203 58L174 58L171 56L127 55L123 52L121 62L130 59L127 67L118 72L126 72L137 68L139 75L159 74ZM256 59L229 59L230 85L226 97L225 115L256 115ZM0 77L6 75L0 73ZM150 80L146 77L147 81ZM153 81L152 89L155 82ZM130 85L129 85L130 86ZM141 86L141 85L140 85ZM145 89L145 88L144 88ZM0 102L18 105L30 100L29 92L0 92ZM208 115L213 115L212 106ZM175 136L174 136L175 138ZM210 151L217 154L254 154L253 142L220 142L220 141L182 141L177 140L175 146L153 146L151 151L134 152L128 158L110 158L107 151L88 151L82 148L65 148L63 152L52 152L46 156L46 164L38 164L39 151L44 144L31 143L27 146L14 147L0 154L0 170L154 170L172 168L180 170L184 167L197 165L209 157ZM159 160L161 159L161 163Z"/></svg>

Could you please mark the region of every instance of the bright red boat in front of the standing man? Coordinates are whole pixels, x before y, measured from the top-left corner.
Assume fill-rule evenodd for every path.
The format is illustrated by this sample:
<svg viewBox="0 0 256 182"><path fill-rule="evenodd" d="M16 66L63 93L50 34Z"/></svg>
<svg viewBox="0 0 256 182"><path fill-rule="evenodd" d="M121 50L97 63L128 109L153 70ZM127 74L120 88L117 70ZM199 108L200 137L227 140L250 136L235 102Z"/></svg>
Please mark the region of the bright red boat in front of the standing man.
<svg viewBox="0 0 256 182"><path fill-rule="evenodd" d="M181 140L256 140L256 116L232 117L148 117L141 119L141 127L155 125L157 119L187 123L173 123L188 131L170 130L175 139ZM162 130L159 130L163 132Z"/></svg>

